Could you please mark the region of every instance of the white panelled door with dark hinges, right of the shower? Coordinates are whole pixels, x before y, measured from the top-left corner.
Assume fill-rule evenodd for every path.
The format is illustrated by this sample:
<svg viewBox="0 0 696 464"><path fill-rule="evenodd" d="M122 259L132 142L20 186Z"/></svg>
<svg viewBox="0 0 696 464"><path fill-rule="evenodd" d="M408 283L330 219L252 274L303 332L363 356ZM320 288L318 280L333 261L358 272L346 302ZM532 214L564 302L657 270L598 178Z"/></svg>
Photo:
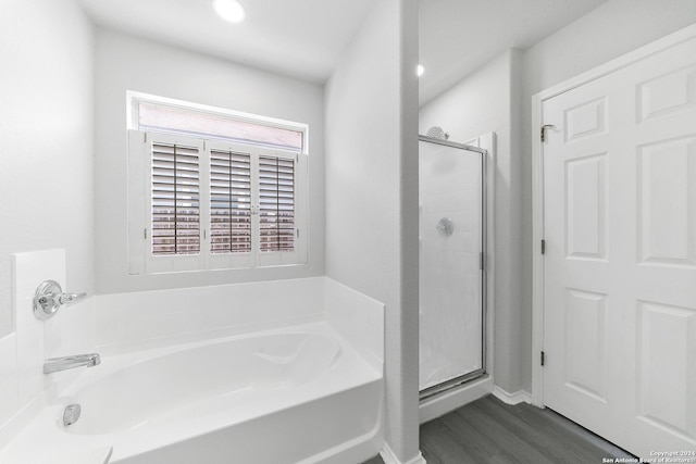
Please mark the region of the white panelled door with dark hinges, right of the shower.
<svg viewBox="0 0 696 464"><path fill-rule="evenodd" d="M543 124L544 402L696 462L696 38L546 100Z"/></svg>

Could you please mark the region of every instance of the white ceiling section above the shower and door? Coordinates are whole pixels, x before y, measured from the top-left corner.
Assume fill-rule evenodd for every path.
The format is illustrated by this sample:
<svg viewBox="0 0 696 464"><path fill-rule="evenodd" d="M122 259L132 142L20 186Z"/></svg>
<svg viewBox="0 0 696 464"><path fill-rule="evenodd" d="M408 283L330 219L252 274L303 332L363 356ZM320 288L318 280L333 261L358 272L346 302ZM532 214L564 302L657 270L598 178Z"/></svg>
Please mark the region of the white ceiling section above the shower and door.
<svg viewBox="0 0 696 464"><path fill-rule="evenodd" d="M421 104L510 48L527 49L607 0L420 0Z"/></svg>

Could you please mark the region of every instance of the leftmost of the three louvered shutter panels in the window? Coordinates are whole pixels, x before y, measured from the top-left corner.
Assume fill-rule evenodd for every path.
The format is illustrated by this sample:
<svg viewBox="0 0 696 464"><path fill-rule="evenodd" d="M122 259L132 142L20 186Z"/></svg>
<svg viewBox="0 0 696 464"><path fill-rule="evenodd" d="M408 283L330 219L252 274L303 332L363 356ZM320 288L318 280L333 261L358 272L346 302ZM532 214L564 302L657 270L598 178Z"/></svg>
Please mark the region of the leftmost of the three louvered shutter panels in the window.
<svg viewBox="0 0 696 464"><path fill-rule="evenodd" d="M199 149L153 142L152 254L200 253Z"/></svg>

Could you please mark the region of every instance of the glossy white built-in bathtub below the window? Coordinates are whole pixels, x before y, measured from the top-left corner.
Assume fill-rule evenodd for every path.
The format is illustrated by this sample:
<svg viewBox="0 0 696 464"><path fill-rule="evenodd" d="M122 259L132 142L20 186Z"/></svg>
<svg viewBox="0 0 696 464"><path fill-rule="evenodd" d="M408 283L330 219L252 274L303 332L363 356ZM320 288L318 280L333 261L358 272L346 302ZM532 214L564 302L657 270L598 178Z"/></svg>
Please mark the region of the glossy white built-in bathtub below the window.
<svg viewBox="0 0 696 464"><path fill-rule="evenodd" d="M383 394L380 369L311 323L102 356L17 441L47 437L53 462L113 447L123 464L353 464L382 447Z"/></svg>

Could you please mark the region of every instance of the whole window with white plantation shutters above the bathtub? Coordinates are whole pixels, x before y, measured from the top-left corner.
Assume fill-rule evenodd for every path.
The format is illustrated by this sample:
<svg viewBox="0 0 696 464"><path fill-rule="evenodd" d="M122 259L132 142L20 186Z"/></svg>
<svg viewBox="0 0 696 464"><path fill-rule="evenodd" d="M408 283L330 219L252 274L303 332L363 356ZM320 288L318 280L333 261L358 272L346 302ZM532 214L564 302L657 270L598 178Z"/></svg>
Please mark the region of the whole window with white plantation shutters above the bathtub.
<svg viewBox="0 0 696 464"><path fill-rule="evenodd" d="M306 127L139 98L128 131L130 274L307 262Z"/></svg>

